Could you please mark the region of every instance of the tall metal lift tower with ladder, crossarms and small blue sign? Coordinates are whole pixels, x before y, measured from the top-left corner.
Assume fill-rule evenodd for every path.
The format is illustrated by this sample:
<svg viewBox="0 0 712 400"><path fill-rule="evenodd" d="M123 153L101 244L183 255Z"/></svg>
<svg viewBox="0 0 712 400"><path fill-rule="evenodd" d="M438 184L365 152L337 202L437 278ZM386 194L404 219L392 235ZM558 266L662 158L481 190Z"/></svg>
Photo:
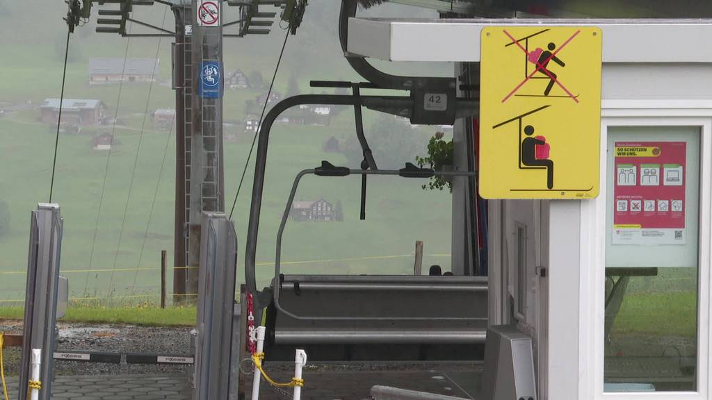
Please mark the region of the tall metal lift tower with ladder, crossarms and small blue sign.
<svg viewBox="0 0 712 400"><path fill-rule="evenodd" d="M266 34L276 12L261 6L293 8L295 0L71 0L66 18L70 31L90 17L98 2L96 31L122 37L170 37L172 87L176 95L176 177L174 216L174 300L195 300L198 292L201 213L224 211L222 38ZM175 31L133 18L135 6L171 7ZM227 6L237 9L236 21L225 22ZM116 5L118 7L116 7ZM232 7L231 7L232 8ZM127 23L148 33L127 31ZM235 33L223 28L237 26ZM199 67L199 68L196 68ZM204 79L204 80L203 80Z"/></svg>

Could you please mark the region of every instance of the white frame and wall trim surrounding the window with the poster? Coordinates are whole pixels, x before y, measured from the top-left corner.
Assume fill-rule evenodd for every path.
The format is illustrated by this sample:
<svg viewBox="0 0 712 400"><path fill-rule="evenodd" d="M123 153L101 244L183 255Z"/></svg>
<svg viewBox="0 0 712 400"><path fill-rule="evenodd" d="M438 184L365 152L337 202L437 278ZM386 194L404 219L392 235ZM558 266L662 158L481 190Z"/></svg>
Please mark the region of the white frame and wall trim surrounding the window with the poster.
<svg viewBox="0 0 712 400"><path fill-rule="evenodd" d="M697 391L639 393L604 392L604 285L609 127L700 127L700 187L698 246ZM712 162L712 102L705 100L604 100L602 102L600 194L581 203L579 399L708 399L712 381L710 321L710 209Z"/></svg>

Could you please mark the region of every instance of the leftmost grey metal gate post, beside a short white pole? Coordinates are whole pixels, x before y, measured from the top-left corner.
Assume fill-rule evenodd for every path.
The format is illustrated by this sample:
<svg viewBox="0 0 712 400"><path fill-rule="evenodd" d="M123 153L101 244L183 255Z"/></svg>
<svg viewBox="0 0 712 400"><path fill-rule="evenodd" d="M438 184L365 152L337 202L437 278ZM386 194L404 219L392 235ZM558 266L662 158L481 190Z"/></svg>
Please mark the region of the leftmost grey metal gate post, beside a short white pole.
<svg viewBox="0 0 712 400"><path fill-rule="evenodd" d="M22 362L18 399L26 400L28 381L39 380L42 389L36 397L49 400L57 315L59 260L63 220L58 204L38 204L30 217L30 246L27 263L27 290L23 325ZM31 376L33 349L40 349L39 373Z"/></svg>

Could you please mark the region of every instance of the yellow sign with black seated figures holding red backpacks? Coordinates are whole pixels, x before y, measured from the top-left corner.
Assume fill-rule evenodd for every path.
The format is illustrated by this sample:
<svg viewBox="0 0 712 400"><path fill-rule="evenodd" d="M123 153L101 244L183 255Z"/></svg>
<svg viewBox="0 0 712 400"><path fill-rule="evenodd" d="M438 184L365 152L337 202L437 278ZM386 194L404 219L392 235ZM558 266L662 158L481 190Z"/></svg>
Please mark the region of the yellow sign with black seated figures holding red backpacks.
<svg viewBox="0 0 712 400"><path fill-rule="evenodd" d="M482 30L480 194L486 199L598 195L601 30Z"/></svg>

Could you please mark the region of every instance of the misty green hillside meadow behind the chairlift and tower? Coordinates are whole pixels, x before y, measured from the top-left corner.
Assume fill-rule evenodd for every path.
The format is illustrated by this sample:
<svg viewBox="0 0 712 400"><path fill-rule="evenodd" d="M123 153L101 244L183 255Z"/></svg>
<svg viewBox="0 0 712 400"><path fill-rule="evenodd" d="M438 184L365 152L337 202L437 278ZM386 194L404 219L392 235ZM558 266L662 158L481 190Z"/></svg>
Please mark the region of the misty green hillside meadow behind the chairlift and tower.
<svg viewBox="0 0 712 400"><path fill-rule="evenodd" d="M41 7L28 23L25 6ZM0 105L26 105L26 110L0 115L0 201L9 208L9 232L0 236L0 301L19 305L25 290L30 212L38 202L48 201L55 132L38 121L37 105L45 98L58 98L61 90L66 26L61 17L64 4L28 0L23 5L0 6ZM137 7L138 8L138 7ZM172 28L173 16L162 7L149 7L142 21ZM297 36L290 36L275 89L284 95L290 80L301 93L334 93L333 89L310 88L309 80L357 80L345 62L337 42L336 2L310 3L310 18ZM95 13L95 10L93 10ZM233 10L228 10L233 12ZM234 13L235 14L235 13ZM226 14L226 18L233 17ZM236 17L236 15L234 16ZM94 32L95 24L76 28L70 38L65 98L100 99L105 115L116 115L117 125L85 127L80 134L59 137L53 201L61 205L64 236L61 270L70 280L70 297L78 302L101 304L155 302L159 294L160 252L173 265L174 131L154 125L150 113L174 108L169 86L171 41L167 38L120 38ZM143 33L140 26L132 32ZM226 39L226 72L257 71L269 83L283 32L275 28L268 36ZM153 85L88 84L88 62L95 57L159 58L158 80ZM393 70L392 66L387 68ZM451 65L402 65L406 73L449 75ZM232 204L247 161L252 137L241 121L246 102L266 91L263 88L229 90L224 95L225 128L236 134L225 142L226 204ZM368 93L365 93L368 94ZM402 93L392 93L394 95ZM392 126L394 118L365 112L367 136L384 147L407 150L389 155L390 164L402 167L422 155L435 127L400 127L384 142L379 126ZM404 125L403 122L397 122ZM380 124L380 125L379 125ZM93 137L114 135L108 151L92 149ZM385 132L388 133L388 132ZM402 137L397 137L402 135ZM405 136L403 136L405 135ZM345 145L353 141L352 109L333 115L328 126L286 125L278 122L271 135L267 179L258 246L258 278L268 285L273 275L276 232L295 175L318 167L325 159L357 168L341 152L324 152L331 137ZM351 139L350 139L351 138ZM391 139L389 139L391 140ZM378 160L377 160L378 161ZM246 173L233 220L239 238L239 280L244 278L244 238L253 177L253 159ZM305 177L297 200L325 199L341 204L345 221L331 223L290 221L283 241L283 272L286 273L412 273L414 242L425 242L426 265L449 268L451 196L447 191L424 191L424 181L394 177L368 180L367 220L359 221L360 177ZM172 290L169 270L167 286Z"/></svg>

